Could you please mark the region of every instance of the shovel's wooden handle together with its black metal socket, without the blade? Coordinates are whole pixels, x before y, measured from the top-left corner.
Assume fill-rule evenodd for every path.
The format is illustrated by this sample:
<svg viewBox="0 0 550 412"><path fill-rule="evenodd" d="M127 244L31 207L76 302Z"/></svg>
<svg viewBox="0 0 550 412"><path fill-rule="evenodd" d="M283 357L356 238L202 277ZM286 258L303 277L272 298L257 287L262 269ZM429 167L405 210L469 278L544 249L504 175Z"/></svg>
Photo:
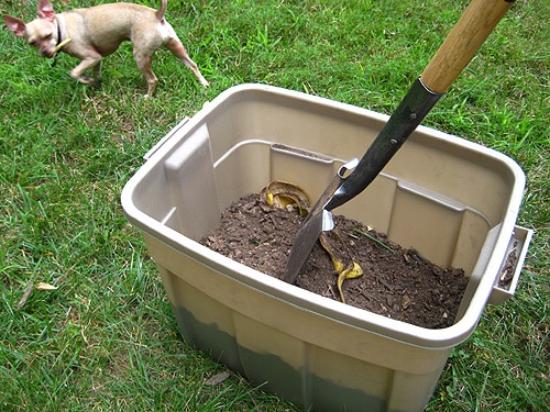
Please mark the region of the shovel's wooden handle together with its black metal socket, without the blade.
<svg viewBox="0 0 550 412"><path fill-rule="evenodd" d="M507 0L473 0L326 209L362 192L382 171L512 7Z"/></svg>

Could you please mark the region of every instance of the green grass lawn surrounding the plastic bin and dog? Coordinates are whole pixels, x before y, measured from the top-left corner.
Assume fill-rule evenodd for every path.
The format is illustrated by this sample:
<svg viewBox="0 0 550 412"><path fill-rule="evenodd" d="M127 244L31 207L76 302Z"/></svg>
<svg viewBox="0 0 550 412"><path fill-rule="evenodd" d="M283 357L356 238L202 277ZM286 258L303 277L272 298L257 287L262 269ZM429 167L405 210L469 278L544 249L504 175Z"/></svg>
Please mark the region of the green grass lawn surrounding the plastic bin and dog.
<svg viewBox="0 0 550 412"><path fill-rule="evenodd" d="M223 366L178 335L121 189L183 116L241 82L391 113L465 4L173 0L168 20L211 87L161 52L153 100L128 44L86 87L68 76L74 58L54 66L0 31L0 409L297 410L239 376L204 385ZM453 350L429 411L550 404L549 8L517 1L425 121L515 158L528 178L518 223L536 230L516 296L487 307ZM28 21L35 1L3 1L1 12ZM41 281L58 289L18 309Z"/></svg>

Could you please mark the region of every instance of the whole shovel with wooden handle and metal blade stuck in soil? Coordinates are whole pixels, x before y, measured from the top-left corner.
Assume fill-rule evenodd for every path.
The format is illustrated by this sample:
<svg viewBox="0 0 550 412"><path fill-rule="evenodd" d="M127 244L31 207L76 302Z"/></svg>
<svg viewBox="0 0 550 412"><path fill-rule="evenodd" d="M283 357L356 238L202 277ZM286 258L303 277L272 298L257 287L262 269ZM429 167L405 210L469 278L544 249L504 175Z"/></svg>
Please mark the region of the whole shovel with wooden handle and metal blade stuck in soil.
<svg viewBox="0 0 550 412"><path fill-rule="evenodd" d="M333 227L330 211L361 193L378 176L468 66L513 2L473 0L470 3L359 164L342 166L311 208L296 235L282 280L289 283L296 281L321 231Z"/></svg>

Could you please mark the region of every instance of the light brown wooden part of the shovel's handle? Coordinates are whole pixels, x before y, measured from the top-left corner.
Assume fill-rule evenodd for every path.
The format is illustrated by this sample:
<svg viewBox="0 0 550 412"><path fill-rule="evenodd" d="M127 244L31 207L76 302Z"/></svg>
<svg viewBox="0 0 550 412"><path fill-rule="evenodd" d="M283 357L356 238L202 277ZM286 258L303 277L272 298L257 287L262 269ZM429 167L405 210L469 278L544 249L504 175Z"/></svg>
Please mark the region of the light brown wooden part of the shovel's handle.
<svg viewBox="0 0 550 412"><path fill-rule="evenodd" d="M420 75L424 85L444 93L513 3L473 0Z"/></svg>

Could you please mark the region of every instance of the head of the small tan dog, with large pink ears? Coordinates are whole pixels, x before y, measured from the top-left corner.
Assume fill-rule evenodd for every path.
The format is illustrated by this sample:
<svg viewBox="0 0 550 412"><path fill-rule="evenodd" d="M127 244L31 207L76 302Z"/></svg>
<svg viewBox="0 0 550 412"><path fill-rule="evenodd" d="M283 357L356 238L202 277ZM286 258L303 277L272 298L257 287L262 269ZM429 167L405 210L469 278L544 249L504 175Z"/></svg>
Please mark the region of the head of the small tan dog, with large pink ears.
<svg viewBox="0 0 550 412"><path fill-rule="evenodd" d="M38 1L38 18L24 23L18 18L4 15L3 21L16 36L24 37L44 57L54 57L55 46L58 43L55 12L50 0Z"/></svg>

